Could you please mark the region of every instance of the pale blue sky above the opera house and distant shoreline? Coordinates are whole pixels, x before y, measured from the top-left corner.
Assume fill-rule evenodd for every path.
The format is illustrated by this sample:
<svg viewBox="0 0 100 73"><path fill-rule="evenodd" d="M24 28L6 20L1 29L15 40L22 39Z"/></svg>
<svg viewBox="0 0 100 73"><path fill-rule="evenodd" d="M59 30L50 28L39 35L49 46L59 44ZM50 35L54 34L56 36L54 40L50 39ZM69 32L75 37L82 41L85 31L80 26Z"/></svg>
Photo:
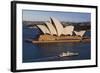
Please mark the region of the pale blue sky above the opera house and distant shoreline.
<svg viewBox="0 0 100 73"><path fill-rule="evenodd" d="M36 11L23 10L23 21L49 21L50 17L55 17L59 21L66 22L87 22L91 21L90 13L79 12L58 12L58 11Z"/></svg>

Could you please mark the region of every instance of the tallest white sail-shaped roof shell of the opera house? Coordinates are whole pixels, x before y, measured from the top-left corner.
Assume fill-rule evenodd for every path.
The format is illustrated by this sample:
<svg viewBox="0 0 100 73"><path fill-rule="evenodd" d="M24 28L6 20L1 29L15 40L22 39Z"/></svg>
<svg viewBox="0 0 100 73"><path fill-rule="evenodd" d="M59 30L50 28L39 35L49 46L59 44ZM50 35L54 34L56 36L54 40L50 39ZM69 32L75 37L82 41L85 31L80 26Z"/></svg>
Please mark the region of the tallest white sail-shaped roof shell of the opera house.
<svg viewBox="0 0 100 73"><path fill-rule="evenodd" d="M54 27L57 31L57 35L60 36L62 34L62 31L63 31L63 25L56 18L52 17L51 19L53 21L52 24L54 25Z"/></svg>

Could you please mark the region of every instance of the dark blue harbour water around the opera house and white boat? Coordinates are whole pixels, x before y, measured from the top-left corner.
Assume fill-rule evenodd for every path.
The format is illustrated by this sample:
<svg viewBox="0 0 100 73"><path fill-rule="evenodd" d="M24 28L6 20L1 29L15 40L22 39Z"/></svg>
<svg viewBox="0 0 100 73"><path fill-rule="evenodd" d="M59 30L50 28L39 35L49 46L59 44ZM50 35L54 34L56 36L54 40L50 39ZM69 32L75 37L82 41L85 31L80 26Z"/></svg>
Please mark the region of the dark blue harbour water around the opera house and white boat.
<svg viewBox="0 0 100 73"><path fill-rule="evenodd" d="M36 39L41 34L37 28L23 26L23 62L63 61L63 60L86 60L91 59L90 43L46 43L32 44L26 39ZM85 35L91 36L90 31ZM77 52L78 56L59 58L62 52Z"/></svg>

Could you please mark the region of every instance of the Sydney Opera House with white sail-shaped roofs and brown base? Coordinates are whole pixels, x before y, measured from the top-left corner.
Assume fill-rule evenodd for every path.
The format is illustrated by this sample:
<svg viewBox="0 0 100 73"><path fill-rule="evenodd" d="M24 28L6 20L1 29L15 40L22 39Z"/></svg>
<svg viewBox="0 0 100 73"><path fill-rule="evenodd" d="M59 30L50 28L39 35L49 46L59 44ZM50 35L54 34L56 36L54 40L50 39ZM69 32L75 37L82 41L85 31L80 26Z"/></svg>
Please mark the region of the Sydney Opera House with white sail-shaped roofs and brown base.
<svg viewBox="0 0 100 73"><path fill-rule="evenodd" d="M80 41L85 30L75 31L74 26L63 26L59 20L52 17L43 25L36 25L43 34L39 35L38 41Z"/></svg>

